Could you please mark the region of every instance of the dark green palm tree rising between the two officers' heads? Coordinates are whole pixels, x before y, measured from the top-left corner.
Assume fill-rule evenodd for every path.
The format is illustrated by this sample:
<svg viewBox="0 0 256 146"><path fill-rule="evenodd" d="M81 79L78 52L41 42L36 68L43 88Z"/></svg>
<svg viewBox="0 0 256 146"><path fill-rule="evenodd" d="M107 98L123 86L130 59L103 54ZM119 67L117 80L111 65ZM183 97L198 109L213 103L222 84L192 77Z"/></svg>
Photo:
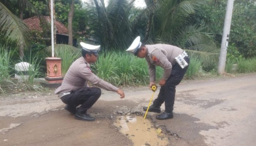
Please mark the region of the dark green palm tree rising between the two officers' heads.
<svg viewBox="0 0 256 146"><path fill-rule="evenodd" d="M131 41L131 23L128 17L134 1L109 0L107 7L104 0L91 1L93 5L88 7L93 19L91 27L95 38L105 49L128 46Z"/></svg>

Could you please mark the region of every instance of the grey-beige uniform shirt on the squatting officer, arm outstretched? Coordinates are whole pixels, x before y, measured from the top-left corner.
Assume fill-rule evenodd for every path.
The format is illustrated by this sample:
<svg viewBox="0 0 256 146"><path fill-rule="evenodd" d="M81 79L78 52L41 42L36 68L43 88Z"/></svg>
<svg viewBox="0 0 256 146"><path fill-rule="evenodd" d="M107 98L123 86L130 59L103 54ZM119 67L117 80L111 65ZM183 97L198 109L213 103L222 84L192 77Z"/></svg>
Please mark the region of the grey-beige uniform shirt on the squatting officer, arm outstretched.
<svg viewBox="0 0 256 146"><path fill-rule="evenodd" d="M69 67L65 74L63 82L59 88L56 89L55 94L76 91L80 88L89 87L87 81L92 84L106 89L108 91L117 91L117 87L97 77L90 69L90 64L86 62L83 57L76 59Z"/></svg>

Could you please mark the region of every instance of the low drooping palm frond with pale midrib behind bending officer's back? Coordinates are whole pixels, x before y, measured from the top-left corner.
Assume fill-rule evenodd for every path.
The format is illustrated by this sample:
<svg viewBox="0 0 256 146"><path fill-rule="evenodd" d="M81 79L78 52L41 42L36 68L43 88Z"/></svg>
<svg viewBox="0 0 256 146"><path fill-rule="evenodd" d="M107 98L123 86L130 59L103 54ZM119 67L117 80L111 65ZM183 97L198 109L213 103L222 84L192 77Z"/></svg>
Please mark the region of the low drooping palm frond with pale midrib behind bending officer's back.
<svg viewBox="0 0 256 146"><path fill-rule="evenodd" d="M220 49L212 41L212 36L203 33L202 30L202 26L191 25L177 29L175 38L171 34L168 36L168 33L165 36L172 40L171 44L186 50L190 57L200 59L203 66L212 66L213 68L218 62ZM170 43L161 37L158 37L156 41L158 43Z"/></svg>

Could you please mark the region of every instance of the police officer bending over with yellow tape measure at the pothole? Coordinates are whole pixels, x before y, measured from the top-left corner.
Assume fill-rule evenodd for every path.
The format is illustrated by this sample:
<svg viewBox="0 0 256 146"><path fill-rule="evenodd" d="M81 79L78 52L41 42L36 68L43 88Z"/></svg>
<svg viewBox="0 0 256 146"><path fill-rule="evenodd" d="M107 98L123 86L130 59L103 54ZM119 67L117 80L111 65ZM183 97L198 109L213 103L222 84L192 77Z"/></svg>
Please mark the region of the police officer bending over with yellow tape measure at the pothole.
<svg viewBox="0 0 256 146"><path fill-rule="evenodd" d="M165 111L156 119L165 120L173 118L173 105L176 86L180 83L189 65L189 58L185 51L179 47L156 44L144 45L137 37L126 50L139 58L145 58L148 63L151 88L155 84L155 66L163 68L163 78L159 81L161 86L157 99L148 109L149 112L161 112L161 105L165 103ZM147 107L143 107L146 111Z"/></svg>

